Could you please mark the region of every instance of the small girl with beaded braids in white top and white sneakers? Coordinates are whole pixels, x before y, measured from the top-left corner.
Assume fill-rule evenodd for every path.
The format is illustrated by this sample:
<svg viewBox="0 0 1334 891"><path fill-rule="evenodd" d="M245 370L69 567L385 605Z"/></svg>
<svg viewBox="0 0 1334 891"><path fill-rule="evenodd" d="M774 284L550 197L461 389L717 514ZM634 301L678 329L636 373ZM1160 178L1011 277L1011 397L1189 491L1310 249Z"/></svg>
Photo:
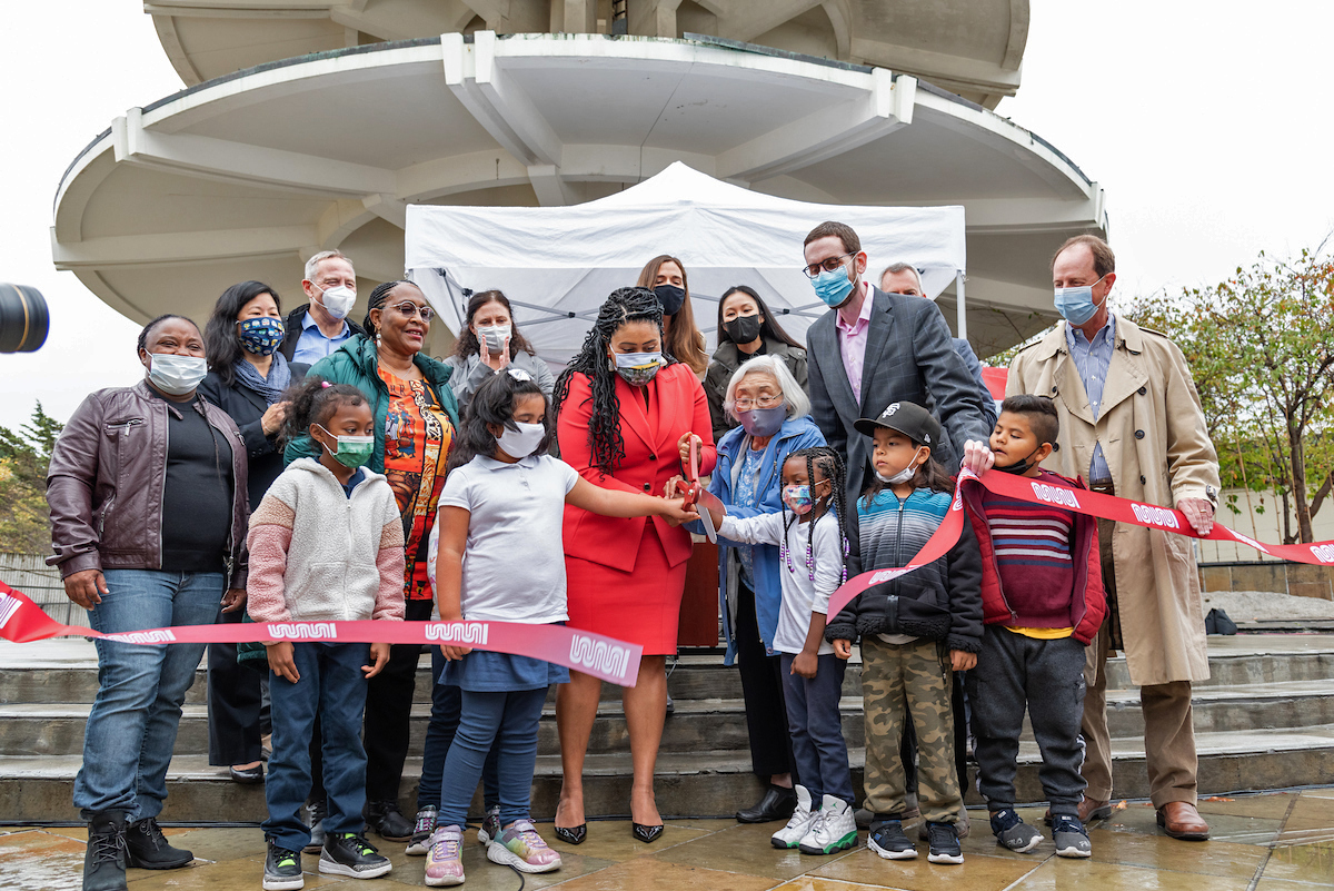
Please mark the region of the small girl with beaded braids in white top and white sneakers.
<svg viewBox="0 0 1334 891"><path fill-rule="evenodd" d="M710 511L720 538L779 547L783 600L774 650L782 654L783 696L800 782L794 784L792 819L771 843L802 854L832 854L856 844L852 772L839 715L847 663L824 640L830 595L847 580L846 487L836 451L828 446L802 448L783 463L780 512L736 518L726 508Z"/></svg>

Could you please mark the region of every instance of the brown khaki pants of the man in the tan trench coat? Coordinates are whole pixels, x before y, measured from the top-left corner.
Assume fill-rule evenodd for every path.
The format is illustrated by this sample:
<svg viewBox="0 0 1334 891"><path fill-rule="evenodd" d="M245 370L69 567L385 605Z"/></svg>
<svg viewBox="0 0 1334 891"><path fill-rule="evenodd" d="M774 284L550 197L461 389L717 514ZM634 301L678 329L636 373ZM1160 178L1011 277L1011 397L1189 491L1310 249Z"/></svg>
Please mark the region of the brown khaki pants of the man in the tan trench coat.
<svg viewBox="0 0 1334 891"><path fill-rule="evenodd" d="M1085 695L1082 732L1086 746L1083 778L1085 795L1097 802L1111 800L1111 739L1107 732L1107 655L1111 628L1119 608L1117 572L1111 560L1111 535L1115 523L1098 520L1098 544L1102 558L1102 580L1107 588L1109 615L1089 647L1093 678ZM1145 763L1149 768L1149 795L1154 807L1169 802L1195 803L1195 728L1191 724L1190 682L1174 680L1139 688L1145 714ZM870 762L870 748L867 748Z"/></svg>

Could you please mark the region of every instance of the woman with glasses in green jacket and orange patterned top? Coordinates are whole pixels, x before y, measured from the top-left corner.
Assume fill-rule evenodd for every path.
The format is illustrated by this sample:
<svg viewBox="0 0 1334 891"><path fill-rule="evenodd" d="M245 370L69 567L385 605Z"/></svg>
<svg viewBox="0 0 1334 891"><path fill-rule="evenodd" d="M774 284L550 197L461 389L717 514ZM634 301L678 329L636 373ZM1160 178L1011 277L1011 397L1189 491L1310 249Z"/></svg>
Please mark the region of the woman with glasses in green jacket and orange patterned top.
<svg viewBox="0 0 1334 891"><path fill-rule="evenodd" d="M435 599L426 572L427 543L459 424L450 388L452 369L422 352L432 317L420 288L411 281L386 281L371 292L366 333L355 335L309 371L334 384L352 384L375 409L375 454L367 467L388 476L403 515L403 596L410 622L431 618ZM301 436L288 444L285 459L291 463L317 455L319 446ZM420 646L395 646L366 698L367 823L390 842L407 842L414 830L399 811L398 798L420 655ZM312 806L321 806L313 794Z"/></svg>

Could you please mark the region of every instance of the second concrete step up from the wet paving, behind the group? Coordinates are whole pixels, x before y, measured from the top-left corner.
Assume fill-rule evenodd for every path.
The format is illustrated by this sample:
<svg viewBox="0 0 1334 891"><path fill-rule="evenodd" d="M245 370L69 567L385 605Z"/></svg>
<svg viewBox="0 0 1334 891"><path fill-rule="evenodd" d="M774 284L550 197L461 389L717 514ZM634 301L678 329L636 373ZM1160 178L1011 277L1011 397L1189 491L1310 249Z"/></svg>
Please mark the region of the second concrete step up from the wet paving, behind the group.
<svg viewBox="0 0 1334 891"><path fill-rule="evenodd" d="M1299 680L1237 687L1195 688L1195 732L1302 728L1334 724L1334 682ZM0 755L77 755L83 751L84 723L89 706L80 703L0 704ZM844 696L843 738L860 747L864 739L862 698ZM420 752L431 707L418 700L412 707L412 750ZM1114 690L1107 695L1107 726L1114 739L1142 738L1143 712L1137 690ZM1033 732L1025 722L1023 739ZM598 710L590 754L626 751L630 735L619 700L603 702ZM675 714L663 727L663 752L702 750L736 751L750 746L746 730L746 703L742 699L678 699ZM208 711L201 703L184 706L176 735L177 755L208 752ZM548 703L538 734L538 751L555 755L555 706Z"/></svg>

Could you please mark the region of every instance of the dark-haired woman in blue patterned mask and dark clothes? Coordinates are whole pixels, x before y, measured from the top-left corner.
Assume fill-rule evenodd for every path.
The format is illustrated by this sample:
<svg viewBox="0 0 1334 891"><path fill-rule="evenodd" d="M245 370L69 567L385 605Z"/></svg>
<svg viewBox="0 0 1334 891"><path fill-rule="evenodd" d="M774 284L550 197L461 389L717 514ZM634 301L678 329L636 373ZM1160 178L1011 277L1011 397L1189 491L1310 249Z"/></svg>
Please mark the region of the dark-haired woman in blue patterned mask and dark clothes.
<svg viewBox="0 0 1334 891"><path fill-rule="evenodd" d="M199 393L241 432L252 507L283 472L277 433L288 405L281 393L305 369L279 351L285 336L281 311L277 291L263 281L240 281L217 297L204 328L208 376ZM223 622L240 620L240 611L223 614ZM259 672L236 663L236 644L208 646L208 763L225 766L237 783L264 779L261 682Z"/></svg>

